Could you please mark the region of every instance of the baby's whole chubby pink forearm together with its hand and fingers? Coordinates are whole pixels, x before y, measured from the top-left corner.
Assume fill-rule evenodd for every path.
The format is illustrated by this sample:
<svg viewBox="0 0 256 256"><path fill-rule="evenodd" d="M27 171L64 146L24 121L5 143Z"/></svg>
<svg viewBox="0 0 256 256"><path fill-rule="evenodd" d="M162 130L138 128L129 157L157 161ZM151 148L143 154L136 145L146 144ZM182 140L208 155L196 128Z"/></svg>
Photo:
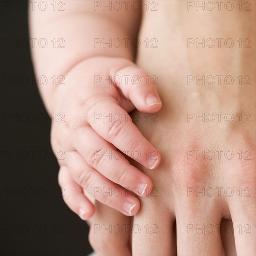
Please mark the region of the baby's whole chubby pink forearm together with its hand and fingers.
<svg viewBox="0 0 256 256"><path fill-rule="evenodd" d="M95 47L94 43L99 38L132 40L141 14L132 9L95 8L91 0L64 3L64 11L30 8L29 13L31 38L48 42L47 47L31 46L36 75L48 78L45 85L39 85L40 94L49 115L64 115L64 122L53 121L51 129L53 149L65 153L64 159L58 159L64 200L82 219L88 219L94 206L83 195L82 189L86 189L99 202L132 216L139 211L140 202L123 188L138 188L134 192L143 196L151 191L152 181L130 165L124 155L118 155L117 149L150 169L159 165L160 155L150 155L155 155L156 149L126 114L135 108L153 113L162 103L148 73L132 62L135 48L131 44L105 48ZM52 41L58 47L50 45ZM63 76L64 85L51 84L54 76ZM115 84L115 76L127 79ZM132 79L135 76L138 79ZM99 77L107 82L95 80ZM122 116L121 120L95 119L115 113ZM113 152L118 157L109 157ZM139 152L140 157L132 152ZM115 188L121 196L95 193Z"/></svg>

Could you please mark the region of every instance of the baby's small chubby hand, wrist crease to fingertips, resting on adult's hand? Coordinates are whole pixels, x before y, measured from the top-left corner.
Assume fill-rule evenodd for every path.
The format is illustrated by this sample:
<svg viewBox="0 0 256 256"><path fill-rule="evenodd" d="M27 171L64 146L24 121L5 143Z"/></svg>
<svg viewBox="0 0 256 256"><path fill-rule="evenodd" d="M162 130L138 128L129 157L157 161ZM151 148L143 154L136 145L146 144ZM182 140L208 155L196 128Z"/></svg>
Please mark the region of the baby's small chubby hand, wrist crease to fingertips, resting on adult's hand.
<svg viewBox="0 0 256 256"><path fill-rule="evenodd" d="M139 199L127 189L146 196L153 184L121 152L149 169L159 165L160 155L128 113L161 107L149 74L126 59L90 58L65 76L53 95L54 113L65 115L64 122L53 122L51 143L65 153L58 159L64 200L82 219L94 214L82 189L124 215L139 211Z"/></svg>

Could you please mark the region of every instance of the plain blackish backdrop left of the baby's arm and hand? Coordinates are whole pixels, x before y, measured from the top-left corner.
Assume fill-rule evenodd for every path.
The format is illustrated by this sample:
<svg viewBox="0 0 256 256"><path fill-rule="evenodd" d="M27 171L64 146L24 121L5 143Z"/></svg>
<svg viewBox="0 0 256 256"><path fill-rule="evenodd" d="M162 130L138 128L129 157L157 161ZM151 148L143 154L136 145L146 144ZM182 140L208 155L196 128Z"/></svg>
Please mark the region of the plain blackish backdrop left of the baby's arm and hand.
<svg viewBox="0 0 256 256"><path fill-rule="evenodd" d="M52 1L50 1L52 2ZM87 224L67 208L34 79L27 1L0 1L0 255L80 256Z"/></svg>

